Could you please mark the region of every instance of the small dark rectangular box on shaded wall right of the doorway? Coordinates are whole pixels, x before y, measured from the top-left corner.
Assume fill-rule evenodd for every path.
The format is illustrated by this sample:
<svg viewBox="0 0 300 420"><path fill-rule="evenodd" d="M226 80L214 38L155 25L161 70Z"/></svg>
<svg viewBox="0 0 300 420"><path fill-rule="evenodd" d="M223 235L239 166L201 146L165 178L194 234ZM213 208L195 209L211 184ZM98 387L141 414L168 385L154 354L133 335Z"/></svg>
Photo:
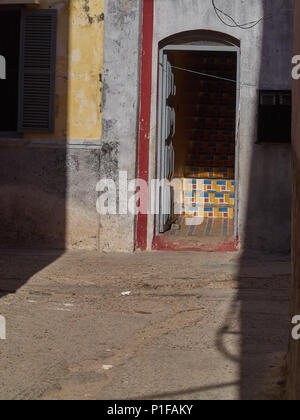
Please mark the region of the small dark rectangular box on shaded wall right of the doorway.
<svg viewBox="0 0 300 420"><path fill-rule="evenodd" d="M291 91L260 91L258 143L290 143L291 113Z"/></svg>

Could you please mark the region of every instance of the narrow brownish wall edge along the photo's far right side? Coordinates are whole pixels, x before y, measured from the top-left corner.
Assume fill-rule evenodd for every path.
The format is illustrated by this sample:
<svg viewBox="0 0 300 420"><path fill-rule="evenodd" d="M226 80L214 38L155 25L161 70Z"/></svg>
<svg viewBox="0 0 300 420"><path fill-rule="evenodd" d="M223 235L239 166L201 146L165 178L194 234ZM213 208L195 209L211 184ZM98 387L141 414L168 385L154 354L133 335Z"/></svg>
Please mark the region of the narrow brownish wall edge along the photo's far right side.
<svg viewBox="0 0 300 420"><path fill-rule="evenodd" d="M294 55L300 55L300 3L294 1ZM293 82L292 135L292 307L291 319L300 315L300 80ZM291 339L288 354L287 397L300 399L300 341Z"/></svg>

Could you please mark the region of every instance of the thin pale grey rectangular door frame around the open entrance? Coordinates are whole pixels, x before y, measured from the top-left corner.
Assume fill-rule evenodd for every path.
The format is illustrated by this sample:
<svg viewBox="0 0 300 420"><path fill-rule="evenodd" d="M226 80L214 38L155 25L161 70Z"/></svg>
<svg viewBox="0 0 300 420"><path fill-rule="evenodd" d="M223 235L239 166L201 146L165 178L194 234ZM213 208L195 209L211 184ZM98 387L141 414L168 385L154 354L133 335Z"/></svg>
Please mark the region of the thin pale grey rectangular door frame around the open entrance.
<svg viewBox="0 0 300 420"><path fill-rule="evenodd" d="M157 167L156 173L160 174L161 148L162 148L162 66L163 54L165 51L221 51L236 52L237 73L236 73L236 128L235 128L235 202L234 202L234 236L238 235L238 206L239 206L239 110L240 110L240 48L226 45L167 45L159 51L159 79L158 79L158 129L157 129ZM159 187L156 189L156 217L155 234L159 234L159 212L160 194Z"/></svg>

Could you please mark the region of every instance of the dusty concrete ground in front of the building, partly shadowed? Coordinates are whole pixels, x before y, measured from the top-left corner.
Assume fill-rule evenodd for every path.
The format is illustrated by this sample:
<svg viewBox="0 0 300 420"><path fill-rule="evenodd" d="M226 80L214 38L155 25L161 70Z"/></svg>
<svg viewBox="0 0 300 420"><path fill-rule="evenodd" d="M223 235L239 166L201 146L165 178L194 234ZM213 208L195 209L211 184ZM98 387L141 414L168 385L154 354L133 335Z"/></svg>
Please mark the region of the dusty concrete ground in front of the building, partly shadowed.
<svg viewBox="0 0 300 420"><path fill-rule="evenodd" d="M289 282L285 256L4 251L0 399L281 398Z"/></svg>

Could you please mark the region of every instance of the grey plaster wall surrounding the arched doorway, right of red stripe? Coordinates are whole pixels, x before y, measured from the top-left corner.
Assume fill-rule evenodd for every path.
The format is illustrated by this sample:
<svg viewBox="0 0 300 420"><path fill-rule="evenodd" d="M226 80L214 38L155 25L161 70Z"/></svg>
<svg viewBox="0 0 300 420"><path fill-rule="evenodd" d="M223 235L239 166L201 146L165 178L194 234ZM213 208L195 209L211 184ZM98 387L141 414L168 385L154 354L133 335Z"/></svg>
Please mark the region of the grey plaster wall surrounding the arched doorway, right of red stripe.
<svg viewBox="0 0 300 420"><path fill-rule="evenodd" d="M151 173L155 177L158 43L190 30L208 29L241 41L239 129L239 235L251 248L290 249L290 146L256 145L258 89L290 89L292 2L219 0L218 7L239 22L272 14L250 30L229 28L214 13L210 0L155 0L153 40ZM148 223L148 244L153 218Z"/></svg>

